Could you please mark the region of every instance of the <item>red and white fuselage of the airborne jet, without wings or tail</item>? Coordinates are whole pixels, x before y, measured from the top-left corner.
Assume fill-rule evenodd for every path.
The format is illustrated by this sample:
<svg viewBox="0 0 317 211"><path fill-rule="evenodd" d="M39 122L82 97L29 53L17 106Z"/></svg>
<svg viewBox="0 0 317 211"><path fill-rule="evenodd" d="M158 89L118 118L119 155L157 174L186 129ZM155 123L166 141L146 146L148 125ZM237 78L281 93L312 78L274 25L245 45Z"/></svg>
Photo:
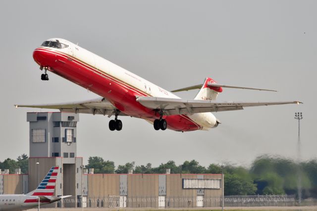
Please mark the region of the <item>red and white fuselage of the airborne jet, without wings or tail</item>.
<svg viewBox="0 0 317 211"><path fill-rule="evenodd" d="M57 40L57 39L52 39ZM109 100L125 115L153 122L159 112L136 101L137 96L179 98L173 93L107 61L106 59L62 39L64 48L41 46L33 58L49 71ZM163 116L167 127L177 131L211 128L217 125L211 113Z"/></svg>

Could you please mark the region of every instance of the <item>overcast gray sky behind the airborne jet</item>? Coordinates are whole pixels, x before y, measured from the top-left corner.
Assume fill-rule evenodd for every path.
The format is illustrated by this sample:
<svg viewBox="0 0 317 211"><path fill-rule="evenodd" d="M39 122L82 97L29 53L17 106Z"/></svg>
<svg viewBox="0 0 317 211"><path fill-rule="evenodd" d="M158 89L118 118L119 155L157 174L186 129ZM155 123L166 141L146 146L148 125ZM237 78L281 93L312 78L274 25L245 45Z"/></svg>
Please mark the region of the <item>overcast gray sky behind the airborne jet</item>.
<svg viewBox="0 0 317 211"><path fill-rule="evenodd" d="M169 160L250 165L259 155L296 156L303 112L303 159L316 158L317 1L15 1L0 2L0 161L29 154L26 112L13 104L57 103L97 95L50 74L41 81L32 52L64 38L167 90L203 83L277 89L228 89L219 100L301 100L303 105L219 112L210 131L156 131L144 120L80 115L77 155L115 165L158 166ZM196 90L180 93L193 98Z"/></svg>

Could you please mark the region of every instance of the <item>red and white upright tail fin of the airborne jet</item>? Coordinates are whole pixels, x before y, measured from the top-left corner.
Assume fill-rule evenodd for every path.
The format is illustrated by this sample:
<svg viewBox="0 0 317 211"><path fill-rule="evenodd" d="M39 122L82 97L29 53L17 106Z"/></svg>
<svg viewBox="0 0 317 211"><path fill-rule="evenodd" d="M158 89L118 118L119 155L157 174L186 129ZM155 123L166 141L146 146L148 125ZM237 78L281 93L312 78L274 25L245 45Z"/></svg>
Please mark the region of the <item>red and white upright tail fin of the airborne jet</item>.
<svg viewBox="0 0 317 211"><path fill-rule="evenodd" d="M208 86L208 84L216 84L211 78L206 78L202 88L194 98L195 100L215 100L219 92L222 92L221 87Z"/></svg>

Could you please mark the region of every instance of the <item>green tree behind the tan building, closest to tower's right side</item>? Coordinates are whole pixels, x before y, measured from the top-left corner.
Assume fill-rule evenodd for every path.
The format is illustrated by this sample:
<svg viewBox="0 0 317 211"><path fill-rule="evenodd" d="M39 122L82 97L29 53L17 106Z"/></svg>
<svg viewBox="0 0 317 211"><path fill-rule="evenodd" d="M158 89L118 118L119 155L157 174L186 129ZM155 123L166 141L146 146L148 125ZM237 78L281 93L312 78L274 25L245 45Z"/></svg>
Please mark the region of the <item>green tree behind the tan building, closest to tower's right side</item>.
<svg viewBox="0 0 317 211"><path fill-rule="evenodd" d="M86 169L94 169L95 173L114 173L114 162L104 161L101 157L89 157L88 165L85 166Z"/></svg>

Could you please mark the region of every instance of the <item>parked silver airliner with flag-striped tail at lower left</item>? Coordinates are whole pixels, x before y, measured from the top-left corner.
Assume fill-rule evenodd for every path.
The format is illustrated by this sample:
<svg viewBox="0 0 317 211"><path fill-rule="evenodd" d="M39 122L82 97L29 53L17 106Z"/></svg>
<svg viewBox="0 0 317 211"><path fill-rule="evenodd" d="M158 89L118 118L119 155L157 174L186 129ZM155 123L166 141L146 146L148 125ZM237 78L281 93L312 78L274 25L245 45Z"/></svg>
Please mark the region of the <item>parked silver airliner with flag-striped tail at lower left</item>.
<svg viewBox="0 0 317 211"><path fill-rule="evenodd" d="M37 189L24 194L0 195L0 211L24 211L51 204L70 196L53 196L58 167L52 167Z"/></svg>

